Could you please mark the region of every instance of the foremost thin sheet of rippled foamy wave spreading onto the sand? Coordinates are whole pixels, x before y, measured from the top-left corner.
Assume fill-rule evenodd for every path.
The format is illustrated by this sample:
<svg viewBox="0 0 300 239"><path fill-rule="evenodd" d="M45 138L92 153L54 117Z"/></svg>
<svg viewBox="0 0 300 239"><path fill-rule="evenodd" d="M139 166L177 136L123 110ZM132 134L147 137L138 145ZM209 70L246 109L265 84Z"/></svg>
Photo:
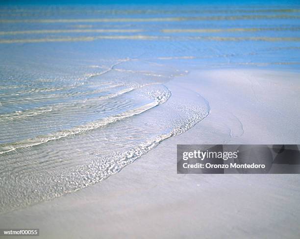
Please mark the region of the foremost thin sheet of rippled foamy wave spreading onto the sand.
<svg viewBox="0 0 300 239"><path fill-rule="evenodd" d="M50 141L48 146L39 144L2 154L0 212L50 200L100 182L209 114L207 102L199 95L174 87L172 94L159 106L153 104L142 114L114 124L69 139ZM157 97L156 90L153 96ZM27 190L20 190L23 187Z"/></svg>

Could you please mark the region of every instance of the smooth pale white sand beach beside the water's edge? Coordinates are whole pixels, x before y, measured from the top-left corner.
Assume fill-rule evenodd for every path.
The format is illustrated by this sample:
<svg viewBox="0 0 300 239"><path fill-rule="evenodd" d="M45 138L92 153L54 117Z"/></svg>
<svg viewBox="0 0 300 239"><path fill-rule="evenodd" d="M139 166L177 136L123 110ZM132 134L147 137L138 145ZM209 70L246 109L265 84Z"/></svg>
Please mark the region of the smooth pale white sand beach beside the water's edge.
<svg viewBox="0 0 300 239"><path fill-rule="evenodd" d="M298 239L298 174L177 174L176 144L299 144L299 79L250 69L175 77L166 83L174 97L196 92L209 103L206 118L108 179L2 214L0 225L39 228L40 238Z"/></svg>

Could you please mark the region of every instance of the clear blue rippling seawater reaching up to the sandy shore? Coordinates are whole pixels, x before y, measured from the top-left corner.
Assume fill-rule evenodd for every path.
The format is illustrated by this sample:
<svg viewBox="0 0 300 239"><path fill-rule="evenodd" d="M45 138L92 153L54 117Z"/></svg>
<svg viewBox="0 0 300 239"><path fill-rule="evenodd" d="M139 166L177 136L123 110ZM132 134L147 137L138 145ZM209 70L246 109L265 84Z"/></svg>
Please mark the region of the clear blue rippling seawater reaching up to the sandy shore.
<svg viewBox="0 0 300 239"><path fill-rule="evenodd" d="M299 70L300 7L0 8L0 212L117 173L209 114L174 77Z"/></svg>

